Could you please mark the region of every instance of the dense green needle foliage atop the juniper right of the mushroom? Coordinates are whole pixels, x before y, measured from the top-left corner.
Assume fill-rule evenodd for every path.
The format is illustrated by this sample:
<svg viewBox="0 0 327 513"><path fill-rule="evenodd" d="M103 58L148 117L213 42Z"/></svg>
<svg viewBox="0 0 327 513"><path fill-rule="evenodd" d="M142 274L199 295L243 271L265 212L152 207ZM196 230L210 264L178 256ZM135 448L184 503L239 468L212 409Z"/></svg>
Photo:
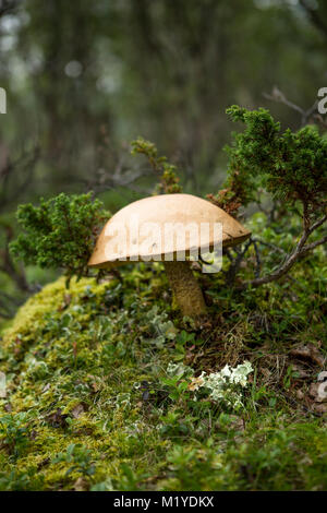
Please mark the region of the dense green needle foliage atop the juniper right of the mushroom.
<svg viewBox="0 0 327 513"><path fill-rule="evenodd" d="M305 215L322 213L327 193L327 140L307 126L292 132L280 130L268 110L247 110L237 105L227 109L245 130L234 134L229 155L229 177L217 203L235 212L257 201L262 189L294 207L301 202Z"/></svg>

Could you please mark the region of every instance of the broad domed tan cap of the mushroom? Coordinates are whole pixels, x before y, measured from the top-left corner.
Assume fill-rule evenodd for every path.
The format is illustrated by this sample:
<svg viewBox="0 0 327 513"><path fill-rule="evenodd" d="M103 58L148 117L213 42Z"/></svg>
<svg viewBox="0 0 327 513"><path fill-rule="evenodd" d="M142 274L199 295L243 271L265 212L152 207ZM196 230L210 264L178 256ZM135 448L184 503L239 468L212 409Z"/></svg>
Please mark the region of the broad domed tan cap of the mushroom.
<svg viewBox="0 0 327 513"><path fill-rule="evenodd" d="M150 230L153 231L153 240L149 232L143 235L143 237L141 235L138 246L135 244L136 241L131 240L130 237L131 219L137 219L141 229L146 223L155 223L159 229ZM108 235L110 228L113 228L114 223L117 223L117 226L121 227L121 232L124 232L126 241L125 244L122 244L123 250L120 252L119 259L117 258L117 240L119 235L118 232ZM99 235L88 265L106 267L114 262L119 263L119 260L165 260L165 256L173 255L179 251L185 251L186 254L190 254L192 248L198 246L198 238L194 238L192 230L185 231L184 240L175 236L167 237L167 234L171 234L171 230L173 231L175 229L177 223L182 223L184 226L190 224L199 226L201 223L208 223L208 240L202 242L203 247L209 247L210 249L214 248L214 244L219 242L222 242L223 247L239 244L251 235L251 231L246 230L223 210L202 198L196 198L192 194L162 194L149 196L131 203L108 220ZM222 240L217 240L217 238L215 240L215 223L221 223L222 225ZM167 228L167 224L171 225L168 225ZM161 244L158 244L158 232L161 234ZM142 248L144 239L146 239L146 247L152 248L152 251L141 254L140 247ZM160 248L161 251L156 252L156 246Z"/></svg>

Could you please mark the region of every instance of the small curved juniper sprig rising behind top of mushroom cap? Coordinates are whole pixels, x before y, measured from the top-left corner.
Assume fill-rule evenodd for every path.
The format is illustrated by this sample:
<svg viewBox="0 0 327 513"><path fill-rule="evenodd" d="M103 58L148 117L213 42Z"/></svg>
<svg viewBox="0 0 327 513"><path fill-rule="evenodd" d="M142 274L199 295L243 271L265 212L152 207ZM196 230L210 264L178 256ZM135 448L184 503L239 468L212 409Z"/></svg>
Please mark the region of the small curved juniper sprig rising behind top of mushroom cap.
<svg viewBox="0 0 327 513"><path fill-rule="evenodd" d="M167 157L158 156L158 150L150 141L145 141L142 138L132 142L132 155L142 154L148 159L153 170L159 175L160 183L156 189L158 194L172 194L182 192L177 176L177 167L167 162Z"/></svg>

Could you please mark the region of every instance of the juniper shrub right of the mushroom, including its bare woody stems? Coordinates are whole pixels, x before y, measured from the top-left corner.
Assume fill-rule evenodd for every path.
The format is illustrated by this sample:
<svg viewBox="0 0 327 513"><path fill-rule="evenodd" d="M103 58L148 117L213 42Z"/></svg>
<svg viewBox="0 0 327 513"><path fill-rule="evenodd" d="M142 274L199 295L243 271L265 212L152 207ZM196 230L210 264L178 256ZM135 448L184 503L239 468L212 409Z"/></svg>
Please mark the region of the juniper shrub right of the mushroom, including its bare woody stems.
<svg viewBox="0 0 327 513"><path fill-rule="evenodd" d="M295 243L290 252L275 247L271 240L252 238L244 250L235 250L234 259L228 253L231 265L227 276L231 284L247 249L254 246L255 278L242 287L259 286L279 279L300 258L327 242L324 230L327 222L327 140L315 126L296 132L290 129L281 131L280 123L263 108L251 111L234 105L227 109L227 114L233 121L243 122L245 129L234 133L232 145L226 146L228 178L223 189L217 195L209 194L209 200L237 216L241 206L256 203L262 207L262 201L270 198L274 204L270 214L277 214L267 218L265 229L270 230L270 239L272 234L289 234L294 216L295 224L300 225L298 232L292 231ZM268 226L269 217L271 223ZM308 242L314 231L316 238ZM279 255L265 275L261 275L259 244L268 246Z"/></svg>

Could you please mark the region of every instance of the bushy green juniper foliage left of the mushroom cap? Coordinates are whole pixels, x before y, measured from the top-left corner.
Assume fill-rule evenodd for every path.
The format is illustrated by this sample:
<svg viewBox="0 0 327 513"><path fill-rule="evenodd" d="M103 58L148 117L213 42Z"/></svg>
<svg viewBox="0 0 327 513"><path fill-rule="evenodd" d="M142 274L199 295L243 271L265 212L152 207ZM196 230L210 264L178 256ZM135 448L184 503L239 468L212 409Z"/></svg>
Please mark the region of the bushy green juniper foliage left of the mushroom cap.
<svg viewBox="0 0 327 513"><path fill-rule="evenodd" d="M23 234L10 244L11 251L27 265L62 269L69 278L87 275L96 237L108 216L90 192L61 193L41 200L39 206L21 205L17 222Z"/></svg>

